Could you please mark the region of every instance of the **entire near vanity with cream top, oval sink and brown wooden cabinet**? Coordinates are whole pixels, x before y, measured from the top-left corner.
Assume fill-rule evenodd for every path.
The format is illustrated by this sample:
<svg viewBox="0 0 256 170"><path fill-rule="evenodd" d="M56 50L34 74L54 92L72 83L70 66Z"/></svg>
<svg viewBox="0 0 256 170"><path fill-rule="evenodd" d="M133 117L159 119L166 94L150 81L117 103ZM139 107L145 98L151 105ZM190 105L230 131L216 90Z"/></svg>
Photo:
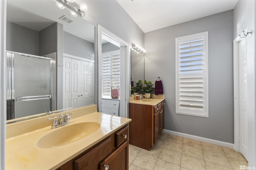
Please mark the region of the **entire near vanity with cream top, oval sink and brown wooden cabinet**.
<svg viewBox="0 0 256 170"><path fill-rule="evenodd" d="M46 121L71 112L63 127ZM128 170L130 121L92 105L7 124L6 169Z"/></svg>

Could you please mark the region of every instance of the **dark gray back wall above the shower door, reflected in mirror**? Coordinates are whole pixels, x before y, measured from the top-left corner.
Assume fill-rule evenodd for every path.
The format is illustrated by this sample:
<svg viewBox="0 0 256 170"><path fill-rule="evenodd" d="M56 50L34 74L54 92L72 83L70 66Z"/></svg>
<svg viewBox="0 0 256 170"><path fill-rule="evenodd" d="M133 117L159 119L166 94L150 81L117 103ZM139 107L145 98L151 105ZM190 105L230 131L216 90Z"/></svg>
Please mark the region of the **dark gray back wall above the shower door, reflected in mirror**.
<svg viewBox="0 0 256 170"><path fill-rule="evenodd" d="M39 55L39 32L7 21L6 50Z"/></svg>

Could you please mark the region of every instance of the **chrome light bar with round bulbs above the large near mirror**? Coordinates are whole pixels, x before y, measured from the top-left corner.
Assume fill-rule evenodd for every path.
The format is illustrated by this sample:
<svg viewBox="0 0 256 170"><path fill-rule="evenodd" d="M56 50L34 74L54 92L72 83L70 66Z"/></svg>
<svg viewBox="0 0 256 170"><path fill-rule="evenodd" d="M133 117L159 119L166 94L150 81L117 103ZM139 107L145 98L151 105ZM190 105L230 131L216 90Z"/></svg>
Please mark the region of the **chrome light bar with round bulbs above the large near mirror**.
<svg viewBox="0 0 256 170"><path fill-rule="evenodd" d="M78 6L78 7L73 7L70 5L70 3L74 3L75 0L55 0L55 1L56 1L56 5L58 6L58 8L60 8L60 9L67 8L68 10L70 10L70 14L73 17L76 17L76 16L84 17L84 13L88 9L86 3L84 3L84 2L82 2L80 4L80 6Z"/></svg>

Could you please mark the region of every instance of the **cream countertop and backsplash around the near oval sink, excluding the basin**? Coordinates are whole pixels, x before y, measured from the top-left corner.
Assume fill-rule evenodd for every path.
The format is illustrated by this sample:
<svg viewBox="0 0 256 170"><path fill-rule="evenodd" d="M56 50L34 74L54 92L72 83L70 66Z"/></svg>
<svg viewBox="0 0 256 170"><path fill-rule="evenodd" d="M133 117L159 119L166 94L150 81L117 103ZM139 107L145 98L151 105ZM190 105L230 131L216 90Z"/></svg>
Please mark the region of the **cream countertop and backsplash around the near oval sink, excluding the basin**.
<svg viewBox="0 0 256 170"><path fill-rule="evenodd" d="M81 122L97 122L100 124L100 128L76 142L55 148L41 149L36 146L37 141L44 135L62 128L51 129L52 121L50 124L49 121L46 121L49 117L58 117L58 114L25 121L23 122L24 127L21 127L20 130L15 125L16 123L8 124L6 125L6 170L56 169L131 121L128 118L99 113L96 105L68 111L68 113L70 112L74 112L70 115L72 118L70 125ZM45 121L49 125L38 126L40 128L34 129L29 128L33 129L31 131L28 129L30 121L32 124L35 121ZM22 125L22 122L19 124Z"/></svg>

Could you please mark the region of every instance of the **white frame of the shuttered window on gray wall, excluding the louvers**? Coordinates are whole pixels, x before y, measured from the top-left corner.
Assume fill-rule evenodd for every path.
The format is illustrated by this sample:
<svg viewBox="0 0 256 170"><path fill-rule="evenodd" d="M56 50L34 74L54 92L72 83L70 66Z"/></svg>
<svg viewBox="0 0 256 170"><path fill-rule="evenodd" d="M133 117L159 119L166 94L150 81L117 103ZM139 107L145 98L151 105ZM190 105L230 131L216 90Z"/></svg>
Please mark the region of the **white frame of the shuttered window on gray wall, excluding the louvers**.
<svg viewBox="0 0 256 170"><path fill-rule="evenodd" d="M203 48L203 55L202 55L202 73L180 73L180 43L182 42L188 42L193 40L202 39L202 48ZM208 113L208 31L187 35L183 37L177 37L175 39L175 62L176 62L176 114L184 114L184 115L192 115L192 116L200 116L200 117L209 117ZM192 63L192 62L191 62ZM192 70L192 69L191 69ZM199 76L200 75L200 76ZM186 107L180 106L180 79L186 79L186 78L202 78L202 110L199 109L192 109L189 108L189 105ZM191 82L190 82L191 83ZM190 86L191 87L191 86ZM188 92L188 93L191 93ZM186 101L188 102L188 101ZM192 107L192 102L188 102Z"/></svg>

